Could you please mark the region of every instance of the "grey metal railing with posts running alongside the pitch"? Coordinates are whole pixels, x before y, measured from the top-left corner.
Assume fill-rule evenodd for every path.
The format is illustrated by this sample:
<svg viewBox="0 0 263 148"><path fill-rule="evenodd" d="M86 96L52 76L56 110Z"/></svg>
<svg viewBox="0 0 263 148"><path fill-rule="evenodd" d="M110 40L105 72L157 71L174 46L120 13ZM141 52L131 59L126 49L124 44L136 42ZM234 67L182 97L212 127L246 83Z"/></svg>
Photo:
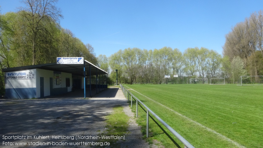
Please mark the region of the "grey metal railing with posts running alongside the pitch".
<svg viewBox="0 0 263 148"><path fill-rule="evenodd" d="M173 133L173 135L175 135L175 137L177 137L185 145L185 148L194 148L192 144L190 144L187 140L185 140L184 137L182 137L172 127L170 127L167 123L165 123L158 115L156 115L152 110L150 110L150 108L148 108L144 103L142 103L138 98L136 98L131 92L129 92L126 88L124 88L122 84L119 84L119 85L122 89L122 92L124 93L125 98L128 97L128 100L129 100L131 96L131 107L132 107L132 98L136 100L136 117L137 118L138 118L138 102L141 103L141 105L143 105L146 108L147 110L147 116L146 116L146 136L147 138L149 137L149 112L150 112L157 120L160 121L160 123L162 123L170 132Z"/></svg>

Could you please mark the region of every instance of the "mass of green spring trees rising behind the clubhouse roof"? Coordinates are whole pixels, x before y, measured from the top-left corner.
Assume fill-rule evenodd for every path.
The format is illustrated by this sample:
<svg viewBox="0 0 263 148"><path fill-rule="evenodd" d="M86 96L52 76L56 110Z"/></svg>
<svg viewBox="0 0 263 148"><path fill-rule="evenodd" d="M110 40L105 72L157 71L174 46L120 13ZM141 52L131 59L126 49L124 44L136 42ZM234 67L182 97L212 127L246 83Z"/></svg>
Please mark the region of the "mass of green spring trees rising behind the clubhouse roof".
<svg viewBox="0 0 263 148"><path fill-rule="evenodd" d="M56 57L84 57L97 64L94 52L59 26L56 1L41 1L24 1L20 11L0 15L1 68L51 63Z"/></svg>

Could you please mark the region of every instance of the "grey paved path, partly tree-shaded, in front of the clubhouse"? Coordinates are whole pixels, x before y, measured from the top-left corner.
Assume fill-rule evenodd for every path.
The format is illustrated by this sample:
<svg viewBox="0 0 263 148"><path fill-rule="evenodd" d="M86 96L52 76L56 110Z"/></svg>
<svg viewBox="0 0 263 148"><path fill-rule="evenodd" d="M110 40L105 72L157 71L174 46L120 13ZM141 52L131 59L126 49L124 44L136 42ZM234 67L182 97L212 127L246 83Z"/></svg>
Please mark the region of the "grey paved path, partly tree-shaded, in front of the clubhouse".
<svg viewBox="0 0 263 148"><path fill-rule="evenodd" d="M112 113L116 105L123 106L124 112L130 116L130 133L125 135L125 141L119 141L121 147L150 147L141 139L140 127L135 123L134 114L121 89L109 88L88 99L76 98L73 92L56 97L33 100L0 99L0 147L94 147L50 144L96 142L96 139L76 139L76 136L101 136L101 132L105 130L104 117ZM63 139L56 139L56 136L63 136ZM26 146L15 145L15 142L26 142ZM49 145L39 146L40 142Z"/></svg>

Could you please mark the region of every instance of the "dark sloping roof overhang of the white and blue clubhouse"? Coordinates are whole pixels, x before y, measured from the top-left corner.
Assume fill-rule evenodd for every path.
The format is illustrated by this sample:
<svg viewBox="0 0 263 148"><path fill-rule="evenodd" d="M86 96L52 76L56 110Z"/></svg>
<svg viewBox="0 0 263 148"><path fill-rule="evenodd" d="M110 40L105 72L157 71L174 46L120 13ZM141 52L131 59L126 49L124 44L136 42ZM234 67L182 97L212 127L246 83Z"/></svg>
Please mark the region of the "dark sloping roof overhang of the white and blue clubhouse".
<svg viewBox="0 0 263 148"><path fill-rule="evenodd" d="M94 64L84 60L84 64L57 64L57 63L48 63L48 64L39 64L39 65L30 65L30 66L21 66L21 67L13 67L13 68L5 68L2 69L3 72L13 72L18 70L27 70L27 69L45 69L51 71L59 71L71 73L73 75L84 76L84 65L86 76L94 76L98 74L108 74L104 70L95 66Z"/></svg>

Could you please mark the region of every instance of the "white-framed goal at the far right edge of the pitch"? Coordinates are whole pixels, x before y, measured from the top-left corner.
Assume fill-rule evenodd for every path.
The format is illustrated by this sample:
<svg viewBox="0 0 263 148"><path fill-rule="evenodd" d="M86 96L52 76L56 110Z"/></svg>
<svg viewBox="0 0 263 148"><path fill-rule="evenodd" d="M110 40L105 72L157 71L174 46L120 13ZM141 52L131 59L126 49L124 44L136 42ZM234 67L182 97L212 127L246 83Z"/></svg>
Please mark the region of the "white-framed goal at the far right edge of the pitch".
<svg viewBox="0 0 263 148"><path fill-rule="evenodd" d="M237 85L263 85L263 76L239 76Z"/></svg>

